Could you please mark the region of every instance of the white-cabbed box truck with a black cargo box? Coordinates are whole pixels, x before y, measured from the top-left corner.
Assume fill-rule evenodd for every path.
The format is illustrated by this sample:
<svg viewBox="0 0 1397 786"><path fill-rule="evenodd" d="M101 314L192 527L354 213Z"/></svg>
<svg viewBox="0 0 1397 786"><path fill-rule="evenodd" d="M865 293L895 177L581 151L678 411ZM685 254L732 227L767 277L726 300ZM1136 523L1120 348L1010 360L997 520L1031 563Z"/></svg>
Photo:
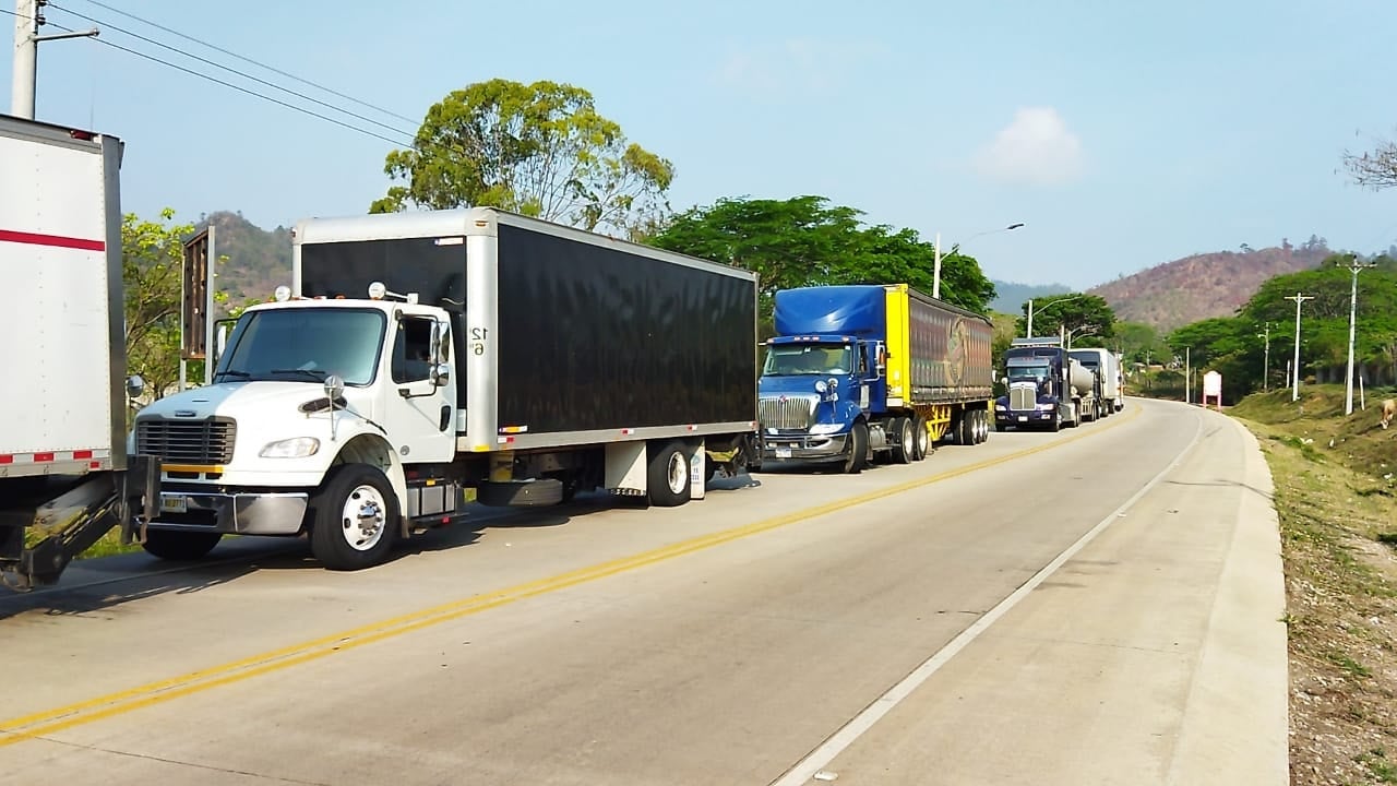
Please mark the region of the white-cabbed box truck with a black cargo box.
<svg viewBox="0 0 1397 786"><path fill-rule="evenodd" d="M321 218L212 383L145 407L145 548L299 536L330 569L485 505L703 496L756 456L756 274L492 208Z"/></svg>

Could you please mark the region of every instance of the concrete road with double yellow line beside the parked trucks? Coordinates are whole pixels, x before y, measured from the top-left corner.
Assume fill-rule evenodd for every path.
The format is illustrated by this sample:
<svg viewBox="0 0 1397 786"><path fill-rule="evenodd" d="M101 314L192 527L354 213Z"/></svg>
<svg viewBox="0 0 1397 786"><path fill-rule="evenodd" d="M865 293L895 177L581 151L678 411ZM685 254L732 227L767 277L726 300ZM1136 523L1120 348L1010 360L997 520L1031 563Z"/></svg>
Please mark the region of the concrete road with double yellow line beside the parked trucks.
<svg viewBox="0 0 1397 786"><path fill-rule="evenodd" d="M359 573L256 540L80 564L0 596L0 782L1281 783L1253 459L1133 400L679 509L492 512Z"/></svg>

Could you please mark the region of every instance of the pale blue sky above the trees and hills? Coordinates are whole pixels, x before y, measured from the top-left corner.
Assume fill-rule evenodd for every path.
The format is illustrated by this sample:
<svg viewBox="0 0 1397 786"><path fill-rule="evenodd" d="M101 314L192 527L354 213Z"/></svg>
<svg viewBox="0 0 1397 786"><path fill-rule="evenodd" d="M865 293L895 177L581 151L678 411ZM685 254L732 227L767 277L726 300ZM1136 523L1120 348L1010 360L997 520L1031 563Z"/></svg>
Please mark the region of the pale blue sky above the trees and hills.
<svg viewBox="0 0 1397 786"><path fill-rule="evenodd" d="M821 194L869 222L964 241L1007 281L1085 288L1310 234L1362 252L1397 242L1397 193L1352 185L1341 164L1397 137L1386 0L103 3L411 120L91 0L52 0L46 15L70 28L92 17L101 41L393 138L474 81L571 83L675 164L676 208ZM6 59L0 108L10 83ZM142 217L240 210L271 228L363 213L388 186L387 141L94 41L41 45L36 116L120 136L123 207ZM1010 222L1025 227L982 234Z"/></svg>

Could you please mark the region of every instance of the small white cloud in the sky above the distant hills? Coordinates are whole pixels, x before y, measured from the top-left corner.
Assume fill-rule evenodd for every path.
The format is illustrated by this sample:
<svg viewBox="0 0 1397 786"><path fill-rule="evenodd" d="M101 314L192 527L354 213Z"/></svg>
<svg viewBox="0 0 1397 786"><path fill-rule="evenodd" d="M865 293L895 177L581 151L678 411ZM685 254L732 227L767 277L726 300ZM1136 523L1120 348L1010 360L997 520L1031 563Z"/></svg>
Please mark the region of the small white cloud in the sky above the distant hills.
<svg viewBox="0 0 1397 786"><path fill-rule="evenodd" d="M981 148L975 164L982 175L997 180L1066 183L1081 172L1081 140L1052 106L1030 106L1014 113L995 141Z"/></svg>

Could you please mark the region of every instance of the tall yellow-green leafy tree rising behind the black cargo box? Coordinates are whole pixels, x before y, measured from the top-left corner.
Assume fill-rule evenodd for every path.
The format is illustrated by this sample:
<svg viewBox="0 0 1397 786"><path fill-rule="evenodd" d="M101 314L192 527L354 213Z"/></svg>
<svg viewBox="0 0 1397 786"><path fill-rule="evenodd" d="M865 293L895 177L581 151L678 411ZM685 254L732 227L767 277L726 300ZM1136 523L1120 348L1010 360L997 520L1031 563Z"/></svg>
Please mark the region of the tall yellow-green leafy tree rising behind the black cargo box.
<svg viewBox="0 0 1397 786"><path fill-rule="evenodd" d="M394 180L370 213L495 206L590 231L629 235L668 210L669 161L626 138L569 84L489 80L427 109L409 150L388 154Z"/></svg>

